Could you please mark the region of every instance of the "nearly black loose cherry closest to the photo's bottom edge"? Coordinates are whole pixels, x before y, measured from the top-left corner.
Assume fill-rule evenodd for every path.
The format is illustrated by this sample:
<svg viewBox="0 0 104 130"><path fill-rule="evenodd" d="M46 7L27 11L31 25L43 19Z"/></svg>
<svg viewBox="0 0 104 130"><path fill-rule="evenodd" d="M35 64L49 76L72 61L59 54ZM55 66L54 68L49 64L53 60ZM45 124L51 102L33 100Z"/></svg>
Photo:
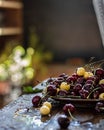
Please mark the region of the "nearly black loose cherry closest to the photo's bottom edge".
<svg viewBox="0 0 104 130"><path fill-rule="evenodd" d="M59 116L57 120L62 129L66 129L70 124L70 120L66 115Z"/></svg>

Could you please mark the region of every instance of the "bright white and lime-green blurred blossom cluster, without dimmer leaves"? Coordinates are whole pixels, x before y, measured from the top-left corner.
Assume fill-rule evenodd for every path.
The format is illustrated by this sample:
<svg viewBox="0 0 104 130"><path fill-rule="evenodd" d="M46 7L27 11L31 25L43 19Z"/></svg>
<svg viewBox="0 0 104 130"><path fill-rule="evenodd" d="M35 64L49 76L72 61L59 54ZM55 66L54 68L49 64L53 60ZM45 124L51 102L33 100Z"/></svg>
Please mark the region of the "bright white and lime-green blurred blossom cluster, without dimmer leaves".
<svg viewBox="0 0 104 130"><path fill-rule="evenodd" d="M32 66L33 48L26 50L18 45L0 64L0 80L10 81L12 85L21 86L32 80L35 69Z"/></svg>

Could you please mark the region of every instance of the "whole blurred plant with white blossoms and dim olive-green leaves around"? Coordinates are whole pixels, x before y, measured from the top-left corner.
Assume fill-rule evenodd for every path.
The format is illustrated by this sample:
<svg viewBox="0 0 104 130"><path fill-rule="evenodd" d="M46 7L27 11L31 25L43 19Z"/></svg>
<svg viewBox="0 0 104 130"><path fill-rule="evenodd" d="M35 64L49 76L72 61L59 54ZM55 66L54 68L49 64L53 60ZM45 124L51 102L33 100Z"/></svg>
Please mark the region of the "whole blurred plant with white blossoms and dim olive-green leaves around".
<svg viewBox="0 0 104 130"><path fill-rule="evenodd" d="M53 54L40 43L34 27L30 28L28 47L17 41L9 41L0 54L0 80L9 80L14 85L26 84L47 71L47 63Z"/></svg>

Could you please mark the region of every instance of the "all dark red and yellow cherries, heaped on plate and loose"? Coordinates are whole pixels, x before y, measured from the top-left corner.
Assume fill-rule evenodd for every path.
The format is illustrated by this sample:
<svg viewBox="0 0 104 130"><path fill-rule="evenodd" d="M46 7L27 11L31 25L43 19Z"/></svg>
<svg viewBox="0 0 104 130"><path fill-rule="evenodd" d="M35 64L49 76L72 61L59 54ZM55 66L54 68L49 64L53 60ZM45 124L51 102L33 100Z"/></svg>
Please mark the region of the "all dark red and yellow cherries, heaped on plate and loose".
<svg viewBox="0 0 104 130"><path fill-rule="evenodd" d="M102 112L104 111L104 69L96 68L88 71L84 67L79 67L72 75L63 73L56 78L49 78L42 97L36 95L32 99L33 106L40 108L41 115L48 115L51 112L52 104L47 97L101 99L96 103L95 109ZM65 104L62 110L65 115L58 118L58 123L66 128L70 123L66 115L73 118L71 113L75 111L75 106L71 103Z"/></svg>

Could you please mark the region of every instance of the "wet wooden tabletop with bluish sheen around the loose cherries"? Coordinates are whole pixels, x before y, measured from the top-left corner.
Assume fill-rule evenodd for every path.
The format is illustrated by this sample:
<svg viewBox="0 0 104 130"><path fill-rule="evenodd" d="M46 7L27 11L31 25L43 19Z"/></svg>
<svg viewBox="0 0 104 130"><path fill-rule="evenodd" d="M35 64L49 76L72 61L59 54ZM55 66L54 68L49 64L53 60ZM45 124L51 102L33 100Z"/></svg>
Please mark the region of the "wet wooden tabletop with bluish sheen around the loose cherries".
<svg viewBox="0 0 104 130"><path fill-rule="evenodd" d="M45 82L44 82L45 83ZM44 85L37 85L42 88ZM41 93L38 93L39 95ZM57 118L62 111L57 104L49 116L41 116L39 109L32 105L32 98L35 94L20 96L16 101L11 102L0 110L0 130L60 130ZM81 121L71 121L67 130L103 130L104 113L97 114L94 109L77 108L73 116ZM83 122L83 123L82 123Z"/></svg>

